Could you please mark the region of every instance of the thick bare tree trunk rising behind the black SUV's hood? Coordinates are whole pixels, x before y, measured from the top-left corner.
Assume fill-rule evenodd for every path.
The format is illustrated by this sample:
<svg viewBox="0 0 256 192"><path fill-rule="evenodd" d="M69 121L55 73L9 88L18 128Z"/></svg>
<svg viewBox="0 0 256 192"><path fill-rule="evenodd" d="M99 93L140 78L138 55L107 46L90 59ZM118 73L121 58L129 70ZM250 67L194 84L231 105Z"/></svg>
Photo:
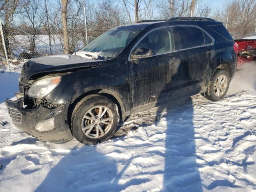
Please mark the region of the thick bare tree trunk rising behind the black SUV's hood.
<svg viewBox="0 0 256 192"><path fill-rule="evenodd" d="M69 52L69 43L68 43L68 21L67 21L67 6L68 0L61 0L62 10L61 10L61 20L62 20L62 34L64 40L64 53Z"/></svg>

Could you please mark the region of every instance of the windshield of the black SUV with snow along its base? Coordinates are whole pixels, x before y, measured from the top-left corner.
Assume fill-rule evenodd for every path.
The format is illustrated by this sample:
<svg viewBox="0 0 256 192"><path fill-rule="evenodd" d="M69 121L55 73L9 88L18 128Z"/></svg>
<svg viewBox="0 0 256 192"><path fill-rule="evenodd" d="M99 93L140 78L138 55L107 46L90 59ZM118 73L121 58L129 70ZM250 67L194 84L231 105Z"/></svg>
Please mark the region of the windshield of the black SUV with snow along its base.
<svg viewBox="0 0 256 192"><path fill-rule="evenodd" d="M140 31L138 29L109 30L76 52L76 55L91 59L114 58Z"/></svg>

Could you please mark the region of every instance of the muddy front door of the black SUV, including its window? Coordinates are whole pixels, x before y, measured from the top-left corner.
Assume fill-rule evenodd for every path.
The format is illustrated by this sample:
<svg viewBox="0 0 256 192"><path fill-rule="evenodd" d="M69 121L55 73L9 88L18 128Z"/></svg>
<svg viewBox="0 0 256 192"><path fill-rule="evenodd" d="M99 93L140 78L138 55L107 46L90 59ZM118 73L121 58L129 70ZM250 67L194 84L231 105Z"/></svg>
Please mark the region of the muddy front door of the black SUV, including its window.
<svg viewBox="0 0 256 192"><path fill-rule="evenodd" d="M131 59L130 90L132 108L142 106L175 94L180 89L180 55L175 52L172 27L153 30L132 50L151 49L153 55Z"/></svg>

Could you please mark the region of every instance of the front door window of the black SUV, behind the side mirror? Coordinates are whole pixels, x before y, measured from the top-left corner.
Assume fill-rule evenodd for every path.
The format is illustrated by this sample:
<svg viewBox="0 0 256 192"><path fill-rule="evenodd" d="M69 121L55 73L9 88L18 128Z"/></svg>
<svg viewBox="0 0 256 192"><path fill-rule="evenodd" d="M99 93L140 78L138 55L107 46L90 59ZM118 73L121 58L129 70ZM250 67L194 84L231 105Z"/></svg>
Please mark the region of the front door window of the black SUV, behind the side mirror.
<svg viewBox="0 0 256 192"><path fill-rule="evenodd" d="M174 50L173 32L171 27L160 28L150 32L143 40L134 48L135 52L138 48L150 48L154 55L164 54Z"/></svg>

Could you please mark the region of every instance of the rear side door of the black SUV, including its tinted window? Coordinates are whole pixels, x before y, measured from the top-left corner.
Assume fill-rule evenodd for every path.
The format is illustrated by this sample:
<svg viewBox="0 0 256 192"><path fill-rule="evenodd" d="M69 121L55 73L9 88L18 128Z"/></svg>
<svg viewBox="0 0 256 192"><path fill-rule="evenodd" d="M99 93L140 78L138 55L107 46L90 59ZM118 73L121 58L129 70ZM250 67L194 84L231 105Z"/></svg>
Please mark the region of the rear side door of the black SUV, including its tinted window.
<svg viewBox="0 0 256 192"><path fill-rule="evenodd" d="M176 26L175 29L180 38L181 90L196 94L210 78L214 41L196 26Z"/></svg>

